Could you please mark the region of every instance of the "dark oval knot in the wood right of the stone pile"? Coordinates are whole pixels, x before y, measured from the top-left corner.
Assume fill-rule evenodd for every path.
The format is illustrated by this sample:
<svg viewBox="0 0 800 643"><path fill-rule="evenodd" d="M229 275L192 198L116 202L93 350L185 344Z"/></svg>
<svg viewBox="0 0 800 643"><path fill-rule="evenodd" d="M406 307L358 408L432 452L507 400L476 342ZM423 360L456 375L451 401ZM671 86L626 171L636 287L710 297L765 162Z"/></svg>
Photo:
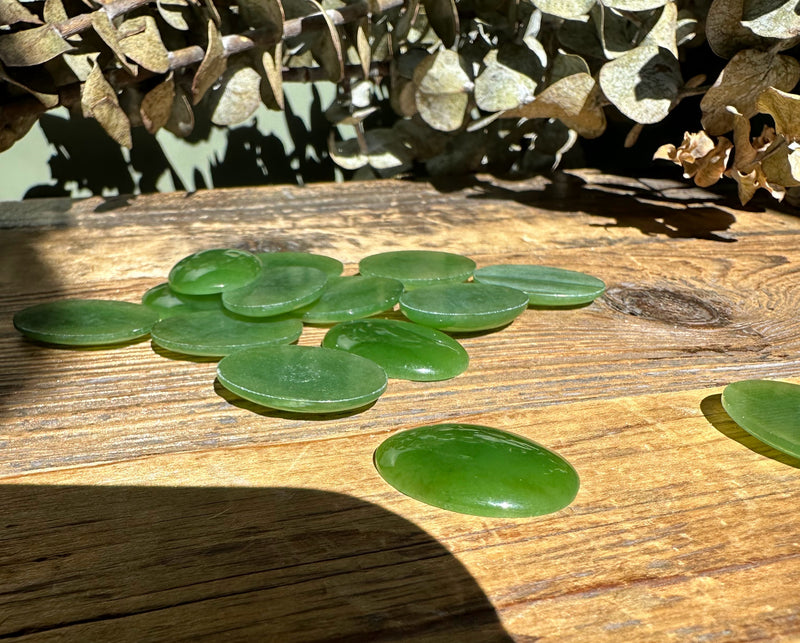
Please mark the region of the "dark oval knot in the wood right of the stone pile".
<svg viewBox="0 0 800 643"><path fill-rule="evenodd" d="M725 307L705 293L620 286L609 288L604 299L611 308L626 315L678 326L719 327L730 323Z"/></svg>

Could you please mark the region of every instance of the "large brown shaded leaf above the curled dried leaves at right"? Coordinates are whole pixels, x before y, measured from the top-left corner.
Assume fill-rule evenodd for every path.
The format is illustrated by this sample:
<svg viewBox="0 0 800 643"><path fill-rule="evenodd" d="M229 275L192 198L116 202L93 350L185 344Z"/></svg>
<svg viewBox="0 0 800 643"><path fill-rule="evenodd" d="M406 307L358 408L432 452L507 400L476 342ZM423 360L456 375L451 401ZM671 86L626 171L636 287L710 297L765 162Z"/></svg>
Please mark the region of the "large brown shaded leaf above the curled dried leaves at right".
<svg viewBox="0 0 800 643"><path fill-rule="evenodd" d="M757 112L756 99L768 87L792 89L800 80L800 63L790 56L745 49L737 53L703 96L703 128L712 136L733 129L735 108L745 118Z"/></svg>

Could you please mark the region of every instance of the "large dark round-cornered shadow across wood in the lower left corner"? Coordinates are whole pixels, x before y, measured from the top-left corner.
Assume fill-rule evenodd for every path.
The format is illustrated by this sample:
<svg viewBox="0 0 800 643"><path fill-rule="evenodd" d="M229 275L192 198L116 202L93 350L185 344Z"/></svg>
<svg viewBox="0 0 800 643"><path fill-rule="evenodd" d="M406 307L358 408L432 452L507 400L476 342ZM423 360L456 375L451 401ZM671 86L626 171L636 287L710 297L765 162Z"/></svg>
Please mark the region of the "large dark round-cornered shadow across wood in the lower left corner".
<svg viewBox="0 0 800 643"><path fill-rule="evenodd" d="M0 486L0 639L510 641L411 522L295 488Z"/></svg>

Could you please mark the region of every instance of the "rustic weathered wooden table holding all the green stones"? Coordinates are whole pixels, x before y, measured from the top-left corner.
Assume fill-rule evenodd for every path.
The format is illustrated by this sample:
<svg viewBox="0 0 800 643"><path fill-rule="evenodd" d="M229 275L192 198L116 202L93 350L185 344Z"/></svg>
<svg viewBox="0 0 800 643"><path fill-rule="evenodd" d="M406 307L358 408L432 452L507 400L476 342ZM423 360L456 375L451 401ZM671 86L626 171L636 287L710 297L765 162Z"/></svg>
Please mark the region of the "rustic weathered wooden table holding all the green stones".
<svg viewBox="0 0 800 643"><path fill-rule="evenodd" d="M0 204L0 639L755 641L800 637L800 462L720 392L800 381L800 220L574 172ZM138 301L211 247L463 253L608 284L468 337L469 370L357 414L272 412L149 341L64 350L12 314ZM324 329L300 340L317 344ZM372 454L438 422L506 429L579 471L501 520L411 500Z"/></svg>

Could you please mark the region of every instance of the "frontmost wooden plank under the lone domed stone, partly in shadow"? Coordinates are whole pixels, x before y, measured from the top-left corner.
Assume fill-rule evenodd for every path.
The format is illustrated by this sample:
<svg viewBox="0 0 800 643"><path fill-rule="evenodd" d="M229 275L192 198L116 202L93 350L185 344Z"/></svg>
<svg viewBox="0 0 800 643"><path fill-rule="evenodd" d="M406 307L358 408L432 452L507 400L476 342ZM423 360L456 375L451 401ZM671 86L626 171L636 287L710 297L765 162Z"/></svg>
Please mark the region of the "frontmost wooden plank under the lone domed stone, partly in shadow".
<svg viewBox="0 0 800 643"><path fill-rule="evenodd" d="M257 631L253 610L265 601L288 610L275 613L276 631L285 624L289 632L300 628L304 614L314 612L322 631L335 638L351 624L327 621L337 609L331 602L350 616L356 608L347 601L367 599L351 596L342 604L343 594L331 595L343 568L327 560L328 553L304 560L302 569L289 564L292 556L311 556L309 542L322 539L328 547L347 543L347 555L357 561L339 561L348 573L355 564L375 591L400 592L370 596L378 602L369 609L383 614L421 601L425 614L430 608L456 620L459 610L476 609L487 629L470 640L500 635L475 582L517 640L733 641L797 632L800 605L791 588L800 580L800 518L791 507L800 493L800 462L744 434L713 390L464 420L555 448L581 475L575 502L552 516L511 521L422 505L389 488L372 467L372 452L391 427L7 478L0 501L4 520L15 524L0 543L0 606L13 596L14 615L0 631L39 622L37 610L46 605L53 623L63 624L59 631L73 640L114 626L149 632L176 620L192 624L186 625L189 640L192 633L213 631L201 616L209 608L223 615L217 624ZM303 536L294 533L298 529ZM77 551L73 539L82 543ZM448 555L434 551L436 541ZM276 551L282 562L273 569ZM210 558L200 564L200 554ZM388 562L392 557L396 562ZM433 576L424 583L408 580L423 569L443 573L428 565L448 568L445 577L464 584L471 607L456 600L452 588L439 594ZM37 575L22 584L28 569ZM309 583L325 591L306 591ZM287 594L276 595L272 584ZM99 598L86 593L97 588L105 590ZM227 601L240 593L245 598L237 610ZM101 623L95 623L98 614L107 614ZM454 627L447 619L445 627ZM282 640L315 632L298 629Z"/></svg>

